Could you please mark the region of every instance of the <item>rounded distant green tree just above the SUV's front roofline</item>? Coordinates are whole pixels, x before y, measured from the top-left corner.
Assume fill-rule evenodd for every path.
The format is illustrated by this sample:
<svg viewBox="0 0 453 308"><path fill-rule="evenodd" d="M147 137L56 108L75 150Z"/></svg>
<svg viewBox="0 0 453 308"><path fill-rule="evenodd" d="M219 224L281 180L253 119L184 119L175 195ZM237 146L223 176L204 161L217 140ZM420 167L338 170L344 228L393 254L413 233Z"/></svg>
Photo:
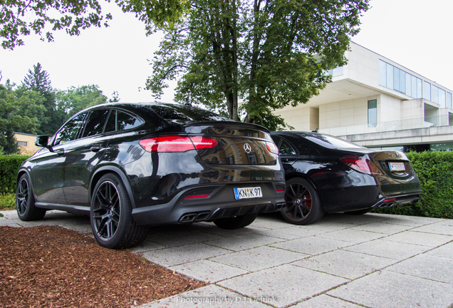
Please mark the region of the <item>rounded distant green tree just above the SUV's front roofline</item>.
<svg viewBox="0 0 453 308"><path fill-rule="evenodd" d="M118 98L118 93L110 101L120 100ZM57 111L64 113L65 116L59 126L61 126L68 118L71 118L75 113L88 108L90 106L95 106L100 103L108 103L108 97L103 94L103 91L100 90L98 85L88 85L80 86L75 88L72 86L66 91L57 91L56 92L56 105Z"/></svg>

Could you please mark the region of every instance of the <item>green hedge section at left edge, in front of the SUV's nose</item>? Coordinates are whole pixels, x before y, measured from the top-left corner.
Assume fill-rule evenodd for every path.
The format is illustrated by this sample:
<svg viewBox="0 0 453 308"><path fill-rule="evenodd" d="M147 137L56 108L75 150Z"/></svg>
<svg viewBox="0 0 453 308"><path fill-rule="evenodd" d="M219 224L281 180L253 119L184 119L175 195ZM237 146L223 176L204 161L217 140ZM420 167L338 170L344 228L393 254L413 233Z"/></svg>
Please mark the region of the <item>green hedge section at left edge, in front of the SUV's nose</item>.
<svg viewBox="0 0 453 308"><path fill-rule="evenodd" d="M0 156L0 194L16 192L17 170L27 155L2 155Z"/></svg>

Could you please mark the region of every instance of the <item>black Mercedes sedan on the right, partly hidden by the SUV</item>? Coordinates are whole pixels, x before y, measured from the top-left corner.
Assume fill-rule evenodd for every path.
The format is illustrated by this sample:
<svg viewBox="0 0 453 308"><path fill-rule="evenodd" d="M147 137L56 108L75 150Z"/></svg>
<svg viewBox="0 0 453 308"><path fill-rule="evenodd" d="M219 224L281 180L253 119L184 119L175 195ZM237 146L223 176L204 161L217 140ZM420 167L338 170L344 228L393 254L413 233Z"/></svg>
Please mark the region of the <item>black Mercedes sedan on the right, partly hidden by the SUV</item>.
<svg viewBox="0 0 453 308"><path fill-rule="evenodd" d="M317 222L325 212L360 215L422 196L420 180L404 153L371 150L321 133L271 136L285 169L287 207L281 215L295 225Z"/></svg>

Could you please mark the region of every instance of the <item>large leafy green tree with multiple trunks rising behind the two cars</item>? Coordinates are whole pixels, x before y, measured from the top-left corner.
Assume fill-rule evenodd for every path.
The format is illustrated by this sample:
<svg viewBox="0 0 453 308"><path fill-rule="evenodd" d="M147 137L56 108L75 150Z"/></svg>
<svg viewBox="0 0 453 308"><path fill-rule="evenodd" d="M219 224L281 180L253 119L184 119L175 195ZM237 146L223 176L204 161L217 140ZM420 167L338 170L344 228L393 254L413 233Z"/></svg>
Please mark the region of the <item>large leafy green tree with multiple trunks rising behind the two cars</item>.
<svg viewBox="0 0 453 308"><path fill-rule="evenodd" d="M273 111L306 103L343 66L350 37L369 0L192 0L179 24L165 29L147 81L160 98L179 78L176 101L201 103L271 129Z"/></svg>

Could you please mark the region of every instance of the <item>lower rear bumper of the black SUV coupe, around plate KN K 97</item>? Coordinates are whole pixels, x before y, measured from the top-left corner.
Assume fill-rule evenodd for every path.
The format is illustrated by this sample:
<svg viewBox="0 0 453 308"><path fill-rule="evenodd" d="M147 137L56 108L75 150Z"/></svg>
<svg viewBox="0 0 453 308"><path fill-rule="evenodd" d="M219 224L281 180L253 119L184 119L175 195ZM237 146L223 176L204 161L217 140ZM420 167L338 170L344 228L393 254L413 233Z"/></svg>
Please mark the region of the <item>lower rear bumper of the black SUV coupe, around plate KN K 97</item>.
<svg viewBox="0 0 453 308"><path fill-rule="evenodd" d="M263 197L236 200L234 188L261 187ZM138 225L170 225L212 221L254 213L275 212L285 206L285 183L207 185L180 191L170 202L138 207L132 217ZM198 193L201 192L201 193ZM207 195L206 197L193 197Z"/></svg>

